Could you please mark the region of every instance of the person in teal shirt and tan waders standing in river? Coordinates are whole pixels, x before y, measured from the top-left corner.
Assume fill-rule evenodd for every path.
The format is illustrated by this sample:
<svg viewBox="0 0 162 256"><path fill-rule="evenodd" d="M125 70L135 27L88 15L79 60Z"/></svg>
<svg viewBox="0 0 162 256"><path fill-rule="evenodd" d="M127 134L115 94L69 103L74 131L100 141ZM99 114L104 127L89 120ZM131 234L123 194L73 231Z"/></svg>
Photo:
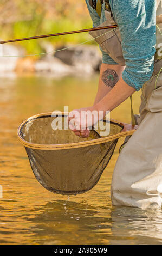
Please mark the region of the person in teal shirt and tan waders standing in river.
<svg viewBox="0 0 162 256"><path fill-rule="evenodd" d="M162 36L161 0L86 0L93 26L118 28L90 32L100 45L99 88L86 111L112 111L142 89L139 128L118 157L113 172L113 205L160 208L162 203ZM157 15L156 15L157 11ZM156 16L158 24L156 27ZM161 37L160 37L160 36ZM156 44L157 38L157 44ZM161 45L159 47L159 45ZM156 49L157 48L157 49ZM81 114L82 109L75 109ZM70 112L76 135L88 137L88 122ZM90 120L90 122L93 120Z"/></svg>

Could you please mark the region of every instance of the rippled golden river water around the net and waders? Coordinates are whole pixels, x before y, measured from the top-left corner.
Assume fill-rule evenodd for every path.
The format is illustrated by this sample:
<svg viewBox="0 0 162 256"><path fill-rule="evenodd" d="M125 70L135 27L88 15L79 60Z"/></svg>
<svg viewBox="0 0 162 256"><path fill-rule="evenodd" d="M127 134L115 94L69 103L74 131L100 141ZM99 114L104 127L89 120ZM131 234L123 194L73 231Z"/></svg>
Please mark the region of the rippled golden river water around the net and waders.
<svg viewBox="0 0 162 256"><path fill-rule="evenodd" d="M122 139L90 191L60 196L45 190L31 171L17 127L31 115L93 104L98 75L93 77L10 76L0 84L0 243L1 244L161 244L161 210L111 205L113 168ZM138 113L140 93L133 96ZM130 121L129 100L111 118Z"/></svg>

